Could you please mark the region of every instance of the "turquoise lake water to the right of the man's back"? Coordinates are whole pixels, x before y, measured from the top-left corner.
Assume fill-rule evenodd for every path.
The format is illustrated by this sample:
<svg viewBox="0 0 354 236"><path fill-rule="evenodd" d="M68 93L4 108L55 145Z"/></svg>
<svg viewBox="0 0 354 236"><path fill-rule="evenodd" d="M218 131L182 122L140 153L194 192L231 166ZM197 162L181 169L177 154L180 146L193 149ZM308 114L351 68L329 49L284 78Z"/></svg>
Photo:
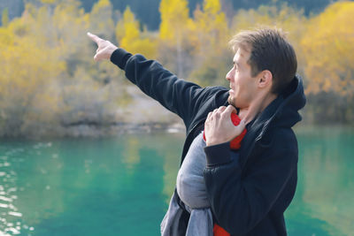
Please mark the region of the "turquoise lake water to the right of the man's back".
<svg viewBox="0 0 354 236"><path fill-rule="evenodd" d="M353 129L308 128L297 137L299 174L286 212L289 234L354 235Z"/></svg>

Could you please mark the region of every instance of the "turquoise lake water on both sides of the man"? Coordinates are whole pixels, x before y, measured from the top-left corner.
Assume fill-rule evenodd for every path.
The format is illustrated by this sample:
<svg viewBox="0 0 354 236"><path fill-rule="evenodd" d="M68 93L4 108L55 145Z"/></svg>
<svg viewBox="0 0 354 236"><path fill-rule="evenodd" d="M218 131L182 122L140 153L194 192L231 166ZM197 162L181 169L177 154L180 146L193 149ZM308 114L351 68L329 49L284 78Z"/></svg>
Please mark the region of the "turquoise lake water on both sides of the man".
<svg viewBox="0 0 354 236"><path fill-rule="evenodd" d="M354 235L354 130L298 128L290 236ZM0 141L0 236L159 235L183 133Z"/></svg>

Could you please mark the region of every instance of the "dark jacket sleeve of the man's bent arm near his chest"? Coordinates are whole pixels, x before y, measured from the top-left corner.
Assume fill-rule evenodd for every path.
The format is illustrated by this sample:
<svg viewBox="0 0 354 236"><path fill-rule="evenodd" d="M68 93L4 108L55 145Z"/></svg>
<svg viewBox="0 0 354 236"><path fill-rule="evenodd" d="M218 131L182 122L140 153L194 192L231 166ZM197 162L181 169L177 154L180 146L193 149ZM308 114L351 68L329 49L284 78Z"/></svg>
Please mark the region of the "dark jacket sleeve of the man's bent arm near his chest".
<svg viewBox="0 0 354 236"><path fill-rule="evenodd" d="M297 142L295 136L285 134L277 132L273 146L258 152L261 154L257 160L243 174L239 153L230 150L229 142L204 148L207 194L214 216L227 232L250 232L266 217L286 187L296 170ZM274 143L289 144L274 148Z"/></svg>

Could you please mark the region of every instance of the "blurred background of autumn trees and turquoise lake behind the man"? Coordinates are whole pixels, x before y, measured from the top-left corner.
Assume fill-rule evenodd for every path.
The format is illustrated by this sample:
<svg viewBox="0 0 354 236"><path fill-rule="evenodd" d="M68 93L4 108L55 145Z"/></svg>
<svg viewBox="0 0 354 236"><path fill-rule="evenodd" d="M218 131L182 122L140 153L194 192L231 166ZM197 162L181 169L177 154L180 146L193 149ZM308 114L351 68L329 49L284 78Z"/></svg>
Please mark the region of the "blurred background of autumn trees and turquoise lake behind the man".
<svg viewBox="0 0 354 236"><path fill-rule="evenodd" d="M0 0L0 236L158 235L181 120L105 61L98 34L180 78L227 86L227 42L280 27L307 104L289 235L354 235L354 2Z"/></svg>

